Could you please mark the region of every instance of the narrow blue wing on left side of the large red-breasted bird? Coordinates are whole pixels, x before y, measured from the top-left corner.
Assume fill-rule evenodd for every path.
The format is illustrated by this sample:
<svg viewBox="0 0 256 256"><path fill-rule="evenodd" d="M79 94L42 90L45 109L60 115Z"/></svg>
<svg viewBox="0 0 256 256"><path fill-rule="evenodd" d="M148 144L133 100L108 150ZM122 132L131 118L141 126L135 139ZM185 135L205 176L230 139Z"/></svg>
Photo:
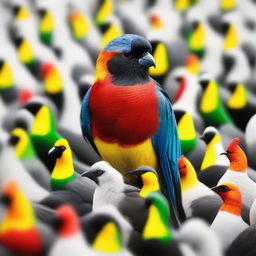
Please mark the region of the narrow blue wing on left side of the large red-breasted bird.
<svg viewBox="0 0 256 256"><path fill-rule="evenodd" d="M91 93L91 88L87 91L86 95L84 96L81 113L80 113L80 121L81 121L81 128L83 137L86 138L93 148L98 152L93 138L92 138L92 128L91 128L91 113L89 108L89 97Z"/></svg>

